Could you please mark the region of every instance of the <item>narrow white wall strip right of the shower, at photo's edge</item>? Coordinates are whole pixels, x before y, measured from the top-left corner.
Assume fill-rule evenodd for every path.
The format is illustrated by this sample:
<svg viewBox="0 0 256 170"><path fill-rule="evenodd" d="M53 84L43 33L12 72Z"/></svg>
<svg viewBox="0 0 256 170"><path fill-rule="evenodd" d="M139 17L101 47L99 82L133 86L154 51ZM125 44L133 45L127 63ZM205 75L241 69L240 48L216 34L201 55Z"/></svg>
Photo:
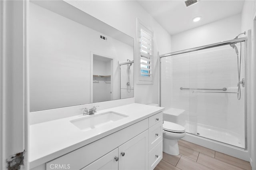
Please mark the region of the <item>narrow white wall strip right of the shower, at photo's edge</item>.
<svg viewBox="0 0 256 170"><path fill-rule="evenodd" d="M256 84L255 84L255 72L256 72L256 60L255 60L255 28L253 26L253 20L256 17L256 1L245 1L242 10L242 31L246 31L248 36L248 30L251 30L251 36L248 37L248 123L249 127L249 138L250 140L250 163L252 169L256 169L256 116L255 116L255 95L256 95Z"/></svg>

